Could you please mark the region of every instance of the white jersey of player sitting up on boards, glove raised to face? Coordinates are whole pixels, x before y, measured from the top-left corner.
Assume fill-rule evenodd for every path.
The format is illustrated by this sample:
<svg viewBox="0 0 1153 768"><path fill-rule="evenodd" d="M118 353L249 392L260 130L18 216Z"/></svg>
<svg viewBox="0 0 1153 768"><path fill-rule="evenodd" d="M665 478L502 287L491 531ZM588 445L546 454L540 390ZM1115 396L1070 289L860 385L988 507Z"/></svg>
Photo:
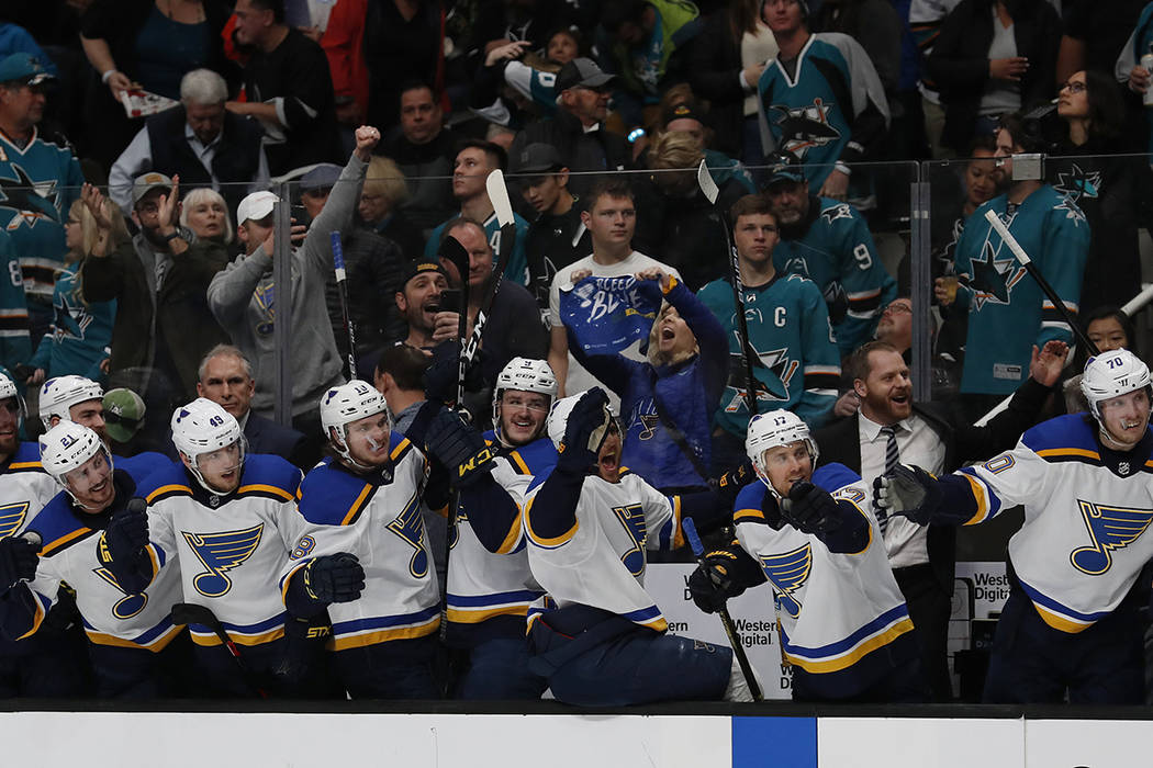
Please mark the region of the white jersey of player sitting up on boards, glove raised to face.
<svg viewBox="0 0 1153 768"><path fill-rule="evenodd" d="M545 602L553 608L580 603L658 632L668 630L664 615L645 591L646 550L684 543L679 499L665 496L627 470L621 471L619 482L589 476L581 486L572 527L563 535L544 538L534 532L533 503L545 479L534 478L523 512L528 563L549 593L548 601L530 610L529 623Z"/></svg>

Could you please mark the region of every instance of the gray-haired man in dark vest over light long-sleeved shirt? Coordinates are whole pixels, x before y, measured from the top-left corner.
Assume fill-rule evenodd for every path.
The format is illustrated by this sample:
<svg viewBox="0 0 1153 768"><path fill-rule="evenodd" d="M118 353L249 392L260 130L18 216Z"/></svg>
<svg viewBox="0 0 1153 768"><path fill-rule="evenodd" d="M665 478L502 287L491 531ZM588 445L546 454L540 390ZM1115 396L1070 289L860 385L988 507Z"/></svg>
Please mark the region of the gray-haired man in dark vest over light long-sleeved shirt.
<svg viewBox="0 0 1153 768"><path fill-rule="evenodd" d="M180 176L187 189L211 187L234 211L249 192L266 189L269 161L256 120L225 109L228 86L211 69L180 81L180 106L152 115L108 174L112 199L130 212L133 180L157 170Z"/></svg>

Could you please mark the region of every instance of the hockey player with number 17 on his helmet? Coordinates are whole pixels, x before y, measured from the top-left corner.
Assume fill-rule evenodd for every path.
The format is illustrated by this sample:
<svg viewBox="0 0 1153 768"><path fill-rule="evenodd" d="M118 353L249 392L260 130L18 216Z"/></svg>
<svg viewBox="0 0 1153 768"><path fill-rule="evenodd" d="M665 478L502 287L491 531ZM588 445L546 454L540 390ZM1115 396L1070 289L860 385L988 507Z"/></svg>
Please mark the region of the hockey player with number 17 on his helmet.
<svg viewBox="0 0 1153 768"><path fill-rule="evenodd" d="M745 446L759 480L737 496L739 547L689 577L696 606L713 613L768 581L793 700L924 701L913 623L860 477L814 472L816 443L791 411L753 417Z"/></svg>

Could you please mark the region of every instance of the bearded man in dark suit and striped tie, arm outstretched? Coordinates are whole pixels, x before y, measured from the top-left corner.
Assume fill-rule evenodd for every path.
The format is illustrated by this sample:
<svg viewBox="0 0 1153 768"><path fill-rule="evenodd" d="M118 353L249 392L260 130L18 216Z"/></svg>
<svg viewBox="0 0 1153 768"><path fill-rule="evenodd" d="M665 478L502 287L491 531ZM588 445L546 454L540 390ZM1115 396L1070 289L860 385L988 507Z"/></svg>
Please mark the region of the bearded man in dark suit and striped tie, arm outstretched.
<svg viewBox="0 0 1153 768"><path fill-rule="evenodd" d="M1069 348L1049 342L1033 349L1027 379L1009 408L986 426L958 424L939 403L914 403L909 366L900 351L871 341L849 358L860 411L814 434L820 462L844 464L872 484L902 462L941 474L963 462L986 459L1011 448L1031 427L1064 367ZM952 698L947 640L951 613L955 527L920 526L906 518L877 518L894 576L905 595L921 646L921 668L935 701Z"/></svg>

